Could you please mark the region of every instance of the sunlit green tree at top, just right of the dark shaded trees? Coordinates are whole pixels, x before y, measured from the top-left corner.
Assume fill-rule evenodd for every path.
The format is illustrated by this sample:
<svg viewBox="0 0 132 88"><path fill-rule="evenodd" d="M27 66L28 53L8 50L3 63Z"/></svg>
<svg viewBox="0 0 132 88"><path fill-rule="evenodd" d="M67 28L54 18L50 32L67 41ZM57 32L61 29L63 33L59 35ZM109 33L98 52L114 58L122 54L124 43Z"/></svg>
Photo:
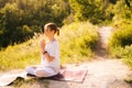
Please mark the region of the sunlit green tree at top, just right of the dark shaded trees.
<svg viewBox="0 0 132 88"><path fill-rule="evenodd" d="M105 20L111 20L113 14L106 12L108 0L69 0L72 9L75 11L75 19L77 21L89 20L94 24L100 23Z"/></svg>

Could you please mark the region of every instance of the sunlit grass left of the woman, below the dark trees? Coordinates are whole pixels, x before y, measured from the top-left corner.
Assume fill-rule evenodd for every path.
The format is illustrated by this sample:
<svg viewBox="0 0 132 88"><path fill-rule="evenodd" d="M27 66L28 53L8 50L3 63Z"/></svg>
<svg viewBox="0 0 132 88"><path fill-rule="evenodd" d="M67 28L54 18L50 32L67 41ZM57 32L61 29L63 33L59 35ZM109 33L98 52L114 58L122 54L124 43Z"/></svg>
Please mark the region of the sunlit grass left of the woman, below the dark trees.
<svg viewBox="0 0 132 88"><path fill-rule="evenodd" d="M30 64L37 64L40 61L38 44L36 40L14 46L8 46L0 51L0 69L24 68Z"/></svg>

